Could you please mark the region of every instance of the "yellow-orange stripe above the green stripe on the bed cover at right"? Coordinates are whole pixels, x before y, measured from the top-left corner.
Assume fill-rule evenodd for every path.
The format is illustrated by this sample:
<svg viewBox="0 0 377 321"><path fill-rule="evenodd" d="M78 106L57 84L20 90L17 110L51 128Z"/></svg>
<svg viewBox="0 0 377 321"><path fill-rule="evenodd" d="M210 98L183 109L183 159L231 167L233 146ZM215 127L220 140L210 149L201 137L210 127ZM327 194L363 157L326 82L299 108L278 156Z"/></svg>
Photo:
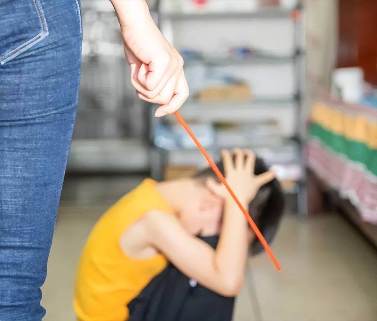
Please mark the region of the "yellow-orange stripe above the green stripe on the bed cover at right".
<svg viewBox="0 0 377 321"><path fill-rule="evenodd" d="M342 135L349 140L365 143L369 148L377 149L377 125L360 116L352 116L330 108L323 103L315 103L311 120L324 129Z"/></svg>

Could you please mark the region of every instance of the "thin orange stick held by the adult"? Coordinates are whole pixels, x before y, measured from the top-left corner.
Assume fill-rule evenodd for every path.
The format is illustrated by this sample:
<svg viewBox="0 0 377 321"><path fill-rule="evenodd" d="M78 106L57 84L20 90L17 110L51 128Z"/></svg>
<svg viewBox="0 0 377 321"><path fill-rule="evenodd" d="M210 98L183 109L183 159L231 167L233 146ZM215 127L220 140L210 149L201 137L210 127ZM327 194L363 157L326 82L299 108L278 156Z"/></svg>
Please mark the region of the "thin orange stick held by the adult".
<svg viewBox="0 0 377 321"><path fill-rule="evenodd" d="M201 145L201 143L199 142L198 138L195 137L194 133L191 131L189 125L187 125L187 123L185 122L185 120L182 118L181 114L178 111L176 111L174 113L174 116L178 120L178 123L180 123L182 125L182 127L185 129L185 131L187 131L187 134L189 134L190 137L193 139L193 141L195 142L196 146L198 146L199 151L201 151L201 153L203 154L203 156L205 157L205 159L208 161L208 164L210 165L211 169L215 172L216 176L219 178L219 180L221 181L221 183L224 184L224 186L227 188L228 192L233 197L234 201L237 203L237 205L241 209L242 213L244 213L244 216L245 216L247 222L249 223L250 227L253 229L255 235L261 241L263 247L265 248L265 250L266 250L268 256L270 257L270 259L272 260L272 262L274 263L276 269L281 270L281 266L280 266L279 262L277 262L277 259L274 256L274 253L272 252L270 246L268 245L268 243L264 239L261 231L259 231L259 228L254 223L253 219L250 217L250 215L247 212L247 210L245 210L245 208L242 206L241 202L238 200L237 196L233 193L233 190L228 185L227 181L225 180L225 177L222 175L222 173L220 172L220 170L216 166L215 162L212 160L212 158L210 157L210 155L207 153L207 151Z"/></svg>

